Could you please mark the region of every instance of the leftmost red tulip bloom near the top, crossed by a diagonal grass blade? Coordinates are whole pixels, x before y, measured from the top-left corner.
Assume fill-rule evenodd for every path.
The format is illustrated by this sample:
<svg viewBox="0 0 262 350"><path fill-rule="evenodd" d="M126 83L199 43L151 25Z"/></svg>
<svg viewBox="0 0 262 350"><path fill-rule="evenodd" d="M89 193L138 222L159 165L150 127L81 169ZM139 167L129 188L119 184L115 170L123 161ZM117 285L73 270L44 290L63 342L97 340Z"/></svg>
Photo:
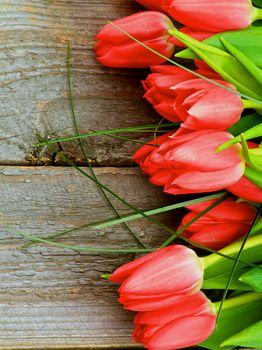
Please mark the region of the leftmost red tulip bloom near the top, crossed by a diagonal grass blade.
<svg viewBox="0 0 262 350"><path fill-rule="evenodd" d="M113 22L136 39L166 57L171 57L175 46L169 43L171 20L160 12L135 13ZM100 63L114 68L146 68L166 60L133 41L111 24L105 25L96 36L95 50Z"/></svg>

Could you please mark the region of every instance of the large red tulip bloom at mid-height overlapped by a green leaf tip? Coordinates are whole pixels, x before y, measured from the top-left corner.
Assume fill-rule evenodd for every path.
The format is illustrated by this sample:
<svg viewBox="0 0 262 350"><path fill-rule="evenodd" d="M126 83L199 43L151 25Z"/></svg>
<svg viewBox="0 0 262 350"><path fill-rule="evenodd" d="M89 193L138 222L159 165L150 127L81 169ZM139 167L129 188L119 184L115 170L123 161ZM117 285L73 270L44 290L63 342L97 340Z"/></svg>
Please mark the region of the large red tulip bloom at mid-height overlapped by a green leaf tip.
<svg viewBox="0 0 262 350"><path fill-rule="evenodd" d="M244 173L240 144L215 152L232 138L228 132L208 129L185 135L166 134L154 140L159 147L142 146L133 159L150 181L164 186L167 193L217 191L234 185Z"/></svg>

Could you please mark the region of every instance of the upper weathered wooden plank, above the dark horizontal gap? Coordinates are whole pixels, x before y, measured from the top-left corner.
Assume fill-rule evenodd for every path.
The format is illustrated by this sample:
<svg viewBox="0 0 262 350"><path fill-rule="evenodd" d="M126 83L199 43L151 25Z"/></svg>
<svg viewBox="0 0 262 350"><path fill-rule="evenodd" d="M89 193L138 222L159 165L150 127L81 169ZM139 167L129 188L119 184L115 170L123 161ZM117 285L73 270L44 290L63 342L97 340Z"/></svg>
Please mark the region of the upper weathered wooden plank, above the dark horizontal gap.
<svg viewBox="0 0 262 350"><path fill-rule="evenodd" d="M74 132L67 98L68 42L81 131L158 122L142 99L146 71L102 67L92 49L108 19L142 8L135 1L9 0L0 6L0 164L48 164L51 155L33 149L36 135ZM108 137L88 144L90 159L99 165L129 165L137 148ZM64 148L79 160L76 144Z"/></svg>

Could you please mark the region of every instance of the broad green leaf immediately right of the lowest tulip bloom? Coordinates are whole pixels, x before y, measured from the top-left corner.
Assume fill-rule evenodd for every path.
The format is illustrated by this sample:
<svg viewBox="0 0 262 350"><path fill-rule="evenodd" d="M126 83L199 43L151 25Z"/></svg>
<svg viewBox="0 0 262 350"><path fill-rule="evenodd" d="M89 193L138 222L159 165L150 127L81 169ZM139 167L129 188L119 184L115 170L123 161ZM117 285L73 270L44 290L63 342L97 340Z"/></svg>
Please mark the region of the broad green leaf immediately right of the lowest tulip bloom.
<svg viewBox="0 0 262 350"><path fill-rule="evenodd" d="M223 342L261 319L261 298L262 294L260 293L245 293L227 299L223 305L216 330L199 345L214 350L232 349L234 346L224 346ZM214 304L217 306L218 303Z"/></svg>

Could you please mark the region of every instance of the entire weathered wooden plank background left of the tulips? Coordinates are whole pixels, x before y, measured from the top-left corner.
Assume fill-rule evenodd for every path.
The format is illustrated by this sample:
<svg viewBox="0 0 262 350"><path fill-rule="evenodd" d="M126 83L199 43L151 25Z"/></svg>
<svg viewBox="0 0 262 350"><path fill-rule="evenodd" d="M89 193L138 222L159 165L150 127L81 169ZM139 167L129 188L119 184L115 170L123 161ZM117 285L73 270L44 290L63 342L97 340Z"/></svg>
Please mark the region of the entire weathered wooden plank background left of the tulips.
<svg viewBox="0 0 262 350"><path fill-rule="evenodd" d="M92 50L95 34L108 19L140 9L132 0L0 0L0 349L137 347L130 339L132 313L117 303L117 286L100 277L132 254L43 245L18 250L26 241L13 230L43 236L113 215L92 182L34 144L38 134L74 132L67 96L68 42L81 131L158 122L142 99L139 81L147 71L102 67ZM77 143L62 147L81 164ZM99 137L89 139L88 147L100 181L130 203L150 209L174 201L133 167L130 157L137 144ZM114 203L121 214L128 212ZM178 223L176 213L162 219ZM149 247L167 237L145 220L130 227ZM63 242L138 247L122 226L85 229Z"/></svg>

